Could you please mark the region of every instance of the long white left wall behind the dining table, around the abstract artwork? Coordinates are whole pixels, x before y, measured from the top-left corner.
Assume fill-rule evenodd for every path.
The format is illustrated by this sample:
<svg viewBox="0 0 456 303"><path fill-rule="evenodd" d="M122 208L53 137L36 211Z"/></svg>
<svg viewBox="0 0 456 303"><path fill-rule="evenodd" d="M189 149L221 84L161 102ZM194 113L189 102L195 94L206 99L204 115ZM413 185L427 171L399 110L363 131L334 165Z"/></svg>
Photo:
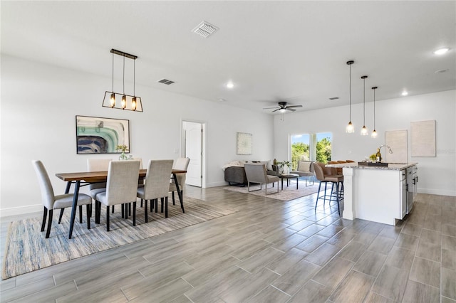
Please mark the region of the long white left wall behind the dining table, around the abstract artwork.
<svg viewBox="0 0 456 303"><path fill-rule="evenodd" d="M76 115L130 120L130 154L148 159L180 156L182 120L207 123L207 187L227 184L222 166L237 159L273 158L273 117L220 103L136 86L144 112L101 107L110 78L1 56L1 216L41 211L32 159L48 170L56 193L65 184L56 173L85 171L89 157L76 154ZM236 155L236 132L253 134L253 154ZM175 152L177 151L177 152Z"/></svg>

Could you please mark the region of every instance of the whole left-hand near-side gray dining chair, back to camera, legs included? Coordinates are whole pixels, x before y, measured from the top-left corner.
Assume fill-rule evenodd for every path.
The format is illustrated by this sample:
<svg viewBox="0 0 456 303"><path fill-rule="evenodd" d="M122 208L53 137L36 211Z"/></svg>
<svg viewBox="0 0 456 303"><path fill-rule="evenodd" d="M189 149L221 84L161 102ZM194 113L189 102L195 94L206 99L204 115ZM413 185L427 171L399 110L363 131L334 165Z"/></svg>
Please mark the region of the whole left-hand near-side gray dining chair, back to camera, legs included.
<svg viewBox="0 0 456 303"><path fill-rule="evenodd" d="M122 207L133 203L133 225L136 225L136 191L138 190L138 177L140 174L140 161L110 161L106 191L95 196L95 203L99 204L95 221L100 223L100 203L106 206L106 230L110 230L110 206L122 204ZM126 217L126 216L125 216Z"/></svg>

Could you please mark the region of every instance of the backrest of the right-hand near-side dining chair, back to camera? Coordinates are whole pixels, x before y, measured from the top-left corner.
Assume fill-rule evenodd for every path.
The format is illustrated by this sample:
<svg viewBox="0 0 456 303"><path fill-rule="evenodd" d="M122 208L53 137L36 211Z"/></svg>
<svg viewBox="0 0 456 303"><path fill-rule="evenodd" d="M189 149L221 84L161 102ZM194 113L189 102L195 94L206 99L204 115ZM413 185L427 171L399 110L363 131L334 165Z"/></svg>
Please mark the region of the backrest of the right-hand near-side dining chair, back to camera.
<svg viewBox="0 0 456 303"><path fill-rule="evenodd" d="M144 180L145 200L168 196L172 160L149 160Z"/></svg>

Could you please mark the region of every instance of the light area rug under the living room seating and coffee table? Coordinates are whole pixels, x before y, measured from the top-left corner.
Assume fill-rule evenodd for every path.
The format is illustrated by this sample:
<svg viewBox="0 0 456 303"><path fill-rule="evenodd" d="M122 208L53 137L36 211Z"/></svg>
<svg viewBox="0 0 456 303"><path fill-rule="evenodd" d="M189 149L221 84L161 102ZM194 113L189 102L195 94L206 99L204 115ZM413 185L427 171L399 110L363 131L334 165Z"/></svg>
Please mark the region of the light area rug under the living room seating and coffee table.
<svg viewBox="0 0 456 303"><path fill-rule="evenodd" d="M272 184L268 184L267 197L282 201L290 201L296 198L309 196L312 193L316 193L318 191L318 182L315 182L314 185L306 186L306 182L300 180L299 188L296 189L296 181L291 180L288 187L286 186L286 181L284 181L284 190L281 190L281 182L279 181L279 193L277 193L276 186L276 183L274 184L274 187L272 187ZM245 187L225 186L222 188L226 189L227 191L237 191L239 193L250 193L257 196L266 196L264 193L264 185L261 191L255 191L256 189L259 189L259 185L250 186L251 191L247 191L247 185Z"/></svg>

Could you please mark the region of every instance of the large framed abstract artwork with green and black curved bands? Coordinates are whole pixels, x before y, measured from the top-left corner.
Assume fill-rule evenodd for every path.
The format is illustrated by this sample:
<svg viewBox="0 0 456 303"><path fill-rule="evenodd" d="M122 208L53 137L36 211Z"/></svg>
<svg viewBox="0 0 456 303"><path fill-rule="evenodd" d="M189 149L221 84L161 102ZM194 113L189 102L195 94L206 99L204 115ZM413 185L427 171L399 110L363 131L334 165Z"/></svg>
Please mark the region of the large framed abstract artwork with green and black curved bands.
<svg viewBox="0 0 456 303"><path fill-rule="evenodd" d="M78 154L115 154L126 145L130 150L130 121L76 116L76 152Z"/></svg>

